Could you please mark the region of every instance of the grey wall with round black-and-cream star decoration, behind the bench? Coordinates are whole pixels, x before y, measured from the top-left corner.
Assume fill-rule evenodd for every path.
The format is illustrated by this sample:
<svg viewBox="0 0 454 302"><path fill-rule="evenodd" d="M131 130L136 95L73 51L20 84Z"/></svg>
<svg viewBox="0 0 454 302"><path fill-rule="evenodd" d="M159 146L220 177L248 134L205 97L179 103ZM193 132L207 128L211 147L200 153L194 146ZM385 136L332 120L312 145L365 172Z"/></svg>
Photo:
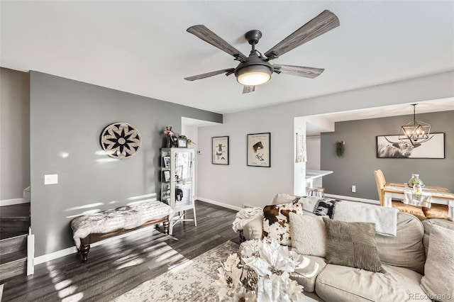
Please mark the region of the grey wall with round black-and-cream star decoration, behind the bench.
<svg viewBox="0 0 454 302"><path fill-rule="evenodd" d="M35 257L74 245L70 220L157 193L165 125L180 132L182 116L222 123L218 113L31 72L31 225ZM142 147L109 162L99 135L114 122L134 125ZM184 134L184 133L182 133ZM44 185L45 174L58 184Z"/></svg>

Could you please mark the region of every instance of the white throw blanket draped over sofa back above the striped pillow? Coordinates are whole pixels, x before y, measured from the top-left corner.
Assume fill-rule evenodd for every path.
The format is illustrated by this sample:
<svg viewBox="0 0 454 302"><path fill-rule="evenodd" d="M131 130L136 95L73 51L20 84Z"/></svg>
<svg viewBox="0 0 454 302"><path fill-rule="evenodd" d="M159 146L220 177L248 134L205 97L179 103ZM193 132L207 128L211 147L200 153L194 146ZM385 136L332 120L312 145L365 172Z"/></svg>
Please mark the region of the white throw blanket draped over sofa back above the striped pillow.
<svg viewBox="0 0 454 302"><path fill-rule="evenodd" d="M375 223L375 232L397 235L397 208L375 206L367 203L342 201L336 203L333 219L348 222Z"/></svg>

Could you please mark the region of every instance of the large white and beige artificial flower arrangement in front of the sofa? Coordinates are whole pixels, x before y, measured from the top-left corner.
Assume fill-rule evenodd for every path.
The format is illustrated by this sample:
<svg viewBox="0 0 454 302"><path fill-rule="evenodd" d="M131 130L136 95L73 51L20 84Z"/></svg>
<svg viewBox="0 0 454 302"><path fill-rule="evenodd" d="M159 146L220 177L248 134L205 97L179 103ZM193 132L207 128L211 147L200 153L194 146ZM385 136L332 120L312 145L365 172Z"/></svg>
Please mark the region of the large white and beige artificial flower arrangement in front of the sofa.
<svg viewBox="0 0 454 302"><path fill-rule="evenodd" d="M303 286L289 278L304 257L275 240L243 242L241 260L230 255L218 268L219 300L233 301L301 301Z"/></svg>

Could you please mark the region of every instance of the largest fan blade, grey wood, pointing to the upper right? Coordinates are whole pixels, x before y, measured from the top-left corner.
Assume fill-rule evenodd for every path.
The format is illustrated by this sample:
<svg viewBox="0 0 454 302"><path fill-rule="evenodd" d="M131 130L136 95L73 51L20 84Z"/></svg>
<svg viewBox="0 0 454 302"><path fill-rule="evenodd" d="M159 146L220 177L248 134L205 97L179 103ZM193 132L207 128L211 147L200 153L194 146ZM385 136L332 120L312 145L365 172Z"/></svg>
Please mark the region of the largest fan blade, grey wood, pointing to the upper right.
<svg viewBox="0 0 454 302"><path fill-rule="evenodd" d="M319 35L332 30L339 26L339 19L331 11L322 11L319 16L316 16L308 23L304 24L297 30L294 31L287 38L277 43L277 45L271 47L270 50L265 52L265 56L268 60L275 59L290 50L303 45L310 40L317 38Z"/></svg>

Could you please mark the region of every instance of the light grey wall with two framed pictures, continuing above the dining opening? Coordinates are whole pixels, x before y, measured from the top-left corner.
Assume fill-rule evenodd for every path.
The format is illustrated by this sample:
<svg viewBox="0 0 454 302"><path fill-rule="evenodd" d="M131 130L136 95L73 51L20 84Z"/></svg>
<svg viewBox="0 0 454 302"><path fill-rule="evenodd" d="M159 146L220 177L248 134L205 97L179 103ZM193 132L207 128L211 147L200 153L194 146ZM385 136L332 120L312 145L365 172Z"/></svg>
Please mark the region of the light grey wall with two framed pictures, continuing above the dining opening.
<svg viewBox="0 0 454 302"><path fill-rule="evenodd" d="M454 72L445 72L226 114L223 125L199 128L199 199L240 208L264 206L279 192L293 192L294 117L444 99L454 96L453 82ZM246 135L265 132L271 133L271 167L248 167ZM211 138L222 135L230 137L228 166L211 164Z"/></svg>

